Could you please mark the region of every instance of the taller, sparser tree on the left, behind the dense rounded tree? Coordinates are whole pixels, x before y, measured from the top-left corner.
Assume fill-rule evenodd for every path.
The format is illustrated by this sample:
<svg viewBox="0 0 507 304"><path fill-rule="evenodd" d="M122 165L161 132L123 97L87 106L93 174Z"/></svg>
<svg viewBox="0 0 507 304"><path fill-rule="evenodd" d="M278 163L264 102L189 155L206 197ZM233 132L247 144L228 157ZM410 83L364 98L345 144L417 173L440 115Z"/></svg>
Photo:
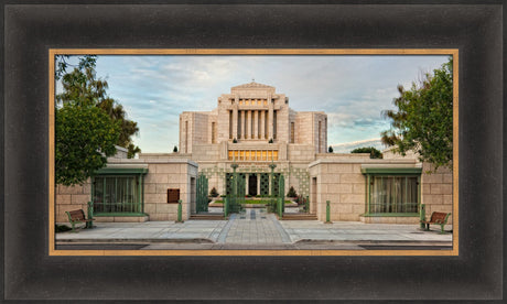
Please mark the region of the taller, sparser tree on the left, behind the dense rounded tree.
<svg viewBox="0 0 507 304"><path fill-rule="evenodd" d="M63 70L67 65L64 64ZM107 82L96 77L95 57L82 57L73 72L62 76L62 86L63 93L56 96L58 105L93 105L103 109L111 119L119 121L121 132L116 144L128 149L129 159L141 152L132 141L132 135L139 132L137 122L129 120L123 107L107 95Z"/></svg>

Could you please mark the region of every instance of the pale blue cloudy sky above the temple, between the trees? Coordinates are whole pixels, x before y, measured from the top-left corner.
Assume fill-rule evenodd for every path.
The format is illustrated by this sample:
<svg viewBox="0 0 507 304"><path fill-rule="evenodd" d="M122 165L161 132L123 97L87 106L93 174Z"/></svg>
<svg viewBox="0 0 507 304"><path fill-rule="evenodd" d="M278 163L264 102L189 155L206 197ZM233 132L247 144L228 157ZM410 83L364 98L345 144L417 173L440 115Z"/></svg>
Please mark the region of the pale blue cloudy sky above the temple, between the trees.
<svg viewBox="0 0 507 304"><path fill-rule="evenodd" d="M409 87L446 56L285 56L100 55L97 76L108 95L138 122L134 138L142 152L172 152L179 143L179 115L217 106L230 87L256 83L274 86L296 111L327 113L330 145L378 139L389 121L397 86Z"/></svg>

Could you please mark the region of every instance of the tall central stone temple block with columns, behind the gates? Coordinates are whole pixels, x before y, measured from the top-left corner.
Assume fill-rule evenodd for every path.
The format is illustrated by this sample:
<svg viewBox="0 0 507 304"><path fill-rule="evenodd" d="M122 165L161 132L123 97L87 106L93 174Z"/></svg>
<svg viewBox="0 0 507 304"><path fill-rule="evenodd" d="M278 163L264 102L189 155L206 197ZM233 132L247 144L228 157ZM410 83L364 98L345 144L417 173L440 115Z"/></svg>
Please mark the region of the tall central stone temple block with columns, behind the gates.
<svg viewBox="0 0 507 304"><path fill-rule="evenodd" d="M236 162L247 195L268 195L269 164L287 185L310 194L308 165L327 148L327 116L298 112L274 87L250 83L218 97L209 112L180 116L180 152L199 165L209 185L225 191L224 174Z"/></svg>

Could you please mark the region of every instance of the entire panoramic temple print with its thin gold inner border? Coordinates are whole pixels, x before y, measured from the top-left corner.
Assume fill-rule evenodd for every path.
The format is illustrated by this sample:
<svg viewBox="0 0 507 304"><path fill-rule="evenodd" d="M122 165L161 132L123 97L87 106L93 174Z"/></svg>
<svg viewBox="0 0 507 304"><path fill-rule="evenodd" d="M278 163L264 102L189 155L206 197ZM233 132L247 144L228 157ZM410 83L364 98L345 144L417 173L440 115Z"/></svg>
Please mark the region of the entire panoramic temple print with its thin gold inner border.
<svg viewBox="0 0 507 304"><path fill-rule="evenodd" d="M456 256L457 53L258 53L53 52L50 253Z"/></svg>

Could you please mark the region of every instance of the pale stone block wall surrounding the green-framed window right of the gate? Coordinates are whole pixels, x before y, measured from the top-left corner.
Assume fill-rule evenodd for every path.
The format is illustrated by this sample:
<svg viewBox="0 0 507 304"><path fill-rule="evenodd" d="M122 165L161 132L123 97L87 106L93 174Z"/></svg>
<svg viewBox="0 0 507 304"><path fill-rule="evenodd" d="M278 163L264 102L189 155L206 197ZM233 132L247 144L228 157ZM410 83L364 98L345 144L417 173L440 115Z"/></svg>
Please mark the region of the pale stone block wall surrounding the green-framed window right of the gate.
<svg viewBox="0 0 507 304"><path fill-rule="evenodd" d="M311 211L320 220L325 220L326 200L331 203L331 220L362 220L365 222L418 224L419 217L364 217L366 208L366 176L363 165L387 167L420 167L416 159L370 160L368 154L336 155L319 159L310 164ZM452 213L452 172L439 169L436 173L430 164L422 164L421 203L425 204L427 218L433 211ZM315 183L316 182L316 183ZM312 186L312 184L314 184ZM452 224L450 218L449 224Z"/></svg>

